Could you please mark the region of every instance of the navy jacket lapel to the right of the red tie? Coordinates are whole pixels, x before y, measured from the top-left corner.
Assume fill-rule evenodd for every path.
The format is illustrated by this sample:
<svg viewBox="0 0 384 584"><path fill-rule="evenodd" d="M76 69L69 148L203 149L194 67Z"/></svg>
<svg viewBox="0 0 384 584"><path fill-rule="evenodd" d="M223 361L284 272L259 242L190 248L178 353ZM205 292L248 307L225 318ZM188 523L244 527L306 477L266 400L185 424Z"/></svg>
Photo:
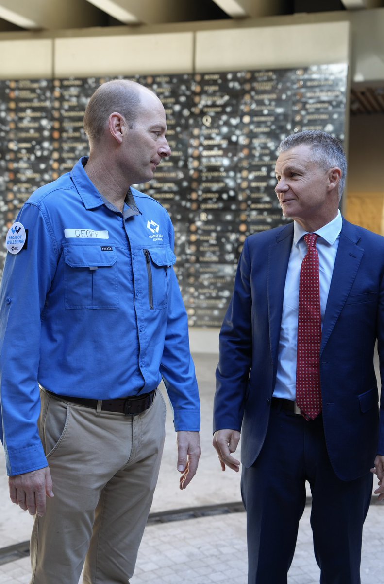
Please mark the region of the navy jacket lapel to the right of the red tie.
<svg viewBox="0 0 384 584"><path fill-rule="evenodd" d="M343 218L339 247L334 262L332 280L325 309L320 354L326 345L340 312L353 286L364 249L358 247L360 235L355 225Z"/></svg>

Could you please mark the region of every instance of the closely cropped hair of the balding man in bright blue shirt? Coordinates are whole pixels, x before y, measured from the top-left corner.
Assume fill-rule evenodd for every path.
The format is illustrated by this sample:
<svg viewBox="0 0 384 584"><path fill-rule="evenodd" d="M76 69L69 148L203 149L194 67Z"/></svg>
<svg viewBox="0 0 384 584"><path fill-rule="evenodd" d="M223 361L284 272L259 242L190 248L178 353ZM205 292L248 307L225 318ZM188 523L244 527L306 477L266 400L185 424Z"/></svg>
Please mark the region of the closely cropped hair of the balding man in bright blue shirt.
<svg viewBox="0 0 384 584"><path fill-rule="evenodd" d="M128 79L113 79L100 85L91 96L84 114L84 130L90 145L103 136L111 113L118 112L133 127L138 117L141 85Z"/></svg>

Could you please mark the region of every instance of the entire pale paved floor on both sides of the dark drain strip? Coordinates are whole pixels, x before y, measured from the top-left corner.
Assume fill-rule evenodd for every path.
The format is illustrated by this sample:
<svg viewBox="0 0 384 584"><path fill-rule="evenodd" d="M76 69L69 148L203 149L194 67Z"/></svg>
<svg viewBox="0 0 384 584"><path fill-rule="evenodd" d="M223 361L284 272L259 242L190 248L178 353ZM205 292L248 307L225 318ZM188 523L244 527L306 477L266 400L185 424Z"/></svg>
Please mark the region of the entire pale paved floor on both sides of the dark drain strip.
<svg viewBox="0 0 384 584"><path fill-rule="evenodd" d="M153 512L237 502L239 475L221 472L212 449L211 412L216 356L196 355L202 397L202 447L199 473L186 491L178 489L175 434L171 414ZM316 584L319 569L312 551L309 507L300 523L289 584ZM31 518L12 505L0 452L0 548L29 538ZM276 526L279 529L279 526ZM29 584L29 558L0 565L0 584ZM147 526L131 584L246 584L245 513L211 515ZM384 506L371 505L364 526L362 584L384 582ZM38 583L36 583L38 584ZM271 582L273 584L273 582ZM348 583L345 583L348 584Z"/></svg>

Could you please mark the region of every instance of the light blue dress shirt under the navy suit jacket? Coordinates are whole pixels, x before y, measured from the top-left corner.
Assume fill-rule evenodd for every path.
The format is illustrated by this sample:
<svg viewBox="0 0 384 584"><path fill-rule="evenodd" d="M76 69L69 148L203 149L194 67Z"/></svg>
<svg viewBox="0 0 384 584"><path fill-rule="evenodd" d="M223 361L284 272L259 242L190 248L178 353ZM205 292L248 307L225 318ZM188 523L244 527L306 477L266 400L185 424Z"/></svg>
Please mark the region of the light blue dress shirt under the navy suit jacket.
<svg viewBox="0 0 384 584"><path fill-rule="evenodd" d="M317 248L319 253L320 308L323 324L325 307L332 279L334 260L343 220L340 211L337 216L320 229ZM297 360L297 321L299 304L299 283L301 262L307 253L304 235L308 233L294 221L294 235L291 255L288 262L286 285L284 287L283 315L281 318L279 360L277 364L274 397L295 399L296 397L296 360Z"/></svg>

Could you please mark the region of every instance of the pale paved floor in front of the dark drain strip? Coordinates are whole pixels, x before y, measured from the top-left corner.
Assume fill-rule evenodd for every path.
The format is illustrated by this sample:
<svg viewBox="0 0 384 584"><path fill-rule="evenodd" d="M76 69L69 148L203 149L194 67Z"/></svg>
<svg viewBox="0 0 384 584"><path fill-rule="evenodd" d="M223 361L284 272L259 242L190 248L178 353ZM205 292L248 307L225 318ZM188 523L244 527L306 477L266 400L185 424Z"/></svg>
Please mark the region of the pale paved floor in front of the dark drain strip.
<svg viewBox="0 0 384 584"><path fill-rule="evenodd" d="M384 506L364 526L361 583L384 582ZM29 584L29 558L0 566L0 584ZM246 584L245 514L149 525L131 584ZM288 584L317 584L309 508L302 517ZM271 582L271 584L273 584ZM345 583L348 584L348 583Z"/></svg>

